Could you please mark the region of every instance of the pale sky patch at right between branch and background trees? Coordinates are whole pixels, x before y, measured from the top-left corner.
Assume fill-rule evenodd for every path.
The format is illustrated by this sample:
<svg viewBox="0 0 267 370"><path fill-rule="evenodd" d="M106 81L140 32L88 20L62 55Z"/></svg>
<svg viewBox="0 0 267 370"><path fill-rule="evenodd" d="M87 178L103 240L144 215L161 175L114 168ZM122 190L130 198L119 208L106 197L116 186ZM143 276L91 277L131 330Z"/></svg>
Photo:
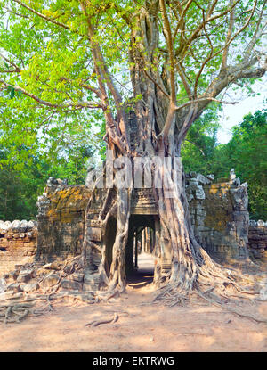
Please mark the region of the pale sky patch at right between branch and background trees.
<svg viewBox="0 0 267 370"><path fill-rule="evenodd" d="M231 139L231 127L242 122L246 114L253 114L255 111L263 110L263 108L267 109L267 78L263 78L262 81L256 81L253 85L253 90L260 95L253 97L239 96L238 99L233 97L233 100L239 101L239 104L223 105L222 128L218 131L218 141L220 144L229 142ZM230 101L230 99L227 100Z"/></svg>

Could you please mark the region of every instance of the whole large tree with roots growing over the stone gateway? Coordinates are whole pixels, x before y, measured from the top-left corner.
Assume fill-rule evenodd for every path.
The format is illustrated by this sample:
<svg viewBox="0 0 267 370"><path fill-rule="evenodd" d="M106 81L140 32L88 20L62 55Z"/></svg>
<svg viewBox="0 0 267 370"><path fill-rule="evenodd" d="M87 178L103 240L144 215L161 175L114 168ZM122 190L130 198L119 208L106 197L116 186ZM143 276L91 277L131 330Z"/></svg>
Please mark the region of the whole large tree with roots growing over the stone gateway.
<svg viewBox="0 0 267 370"><path fill-rule="evenodd" d="M91 110L101 119L95 113L100 111L113 158L132 163L136 157L171 158L171 169L155 169L167 180L174 179L174 159L209 103L223 103L228 87L246 88L267 69L261 46L265 0L1 3L2 89L24 95L17 104L39 111L44 120L53 116L53 124L75 111L88 117ZM129 106L137 118L136 145L129 135ZM117 201L101 212L103 225L110 216L117 218L110 274L102 269L111 293L125 289L132 190L133 185L117 188ZM162 293L173 292L180 300L199 284L229 280L194 238L183 175L172 197L166 182L154 190L160 243L172 255ZM85 234L84 251L88 245L97 248Z"/></svg>

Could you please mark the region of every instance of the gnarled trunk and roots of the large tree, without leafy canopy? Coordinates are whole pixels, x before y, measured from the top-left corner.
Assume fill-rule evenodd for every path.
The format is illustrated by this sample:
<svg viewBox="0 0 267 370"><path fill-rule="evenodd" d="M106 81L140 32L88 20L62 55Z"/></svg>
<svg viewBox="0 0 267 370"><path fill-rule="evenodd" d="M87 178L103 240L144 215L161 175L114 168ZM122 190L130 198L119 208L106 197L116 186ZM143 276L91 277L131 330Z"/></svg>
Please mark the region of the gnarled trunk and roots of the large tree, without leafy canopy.
<svg viewBox="0 0 267 370"><path fill-rule="evenodd" d="M117 117L113 119L110 111L105 112L108 149L112 152L113 160L126 158L132 164L132 178L134 160L153 158L159 159L158 166L143 165L144 173L152 173L155 201L158 204L160 249L163 256L158 260L155 267L154 282L161 287L158 297L171 295L174 301L186 299L190 292L199 287L222 290L225 284L235 283L237 277L230 275L229 271L217 265L197 243L190 224L190 213L185 193L185 177L182 170L182 162L177 160L181 156L182 141L195 119L201 114L202 108L198 103L192 103L180 111L175 110L175 86L172 65L168 61L163 64L161 71L157 67L158 48L158 7L163 2L146 2L147 8L143 9L139 19L139 29L132 30L132 44L139 47L130 48L131 80L134 97L137 99L134 105L136 126L131 127L133 119L122 109L122 104L117 99ZM164 12L164 9L162 9ZM166 22L166 29L167 29ZM170 42L170 38L168 38ZM171 53L171 47L169 53ZM145 53L143 51L145 50ZM97 47L94 50L97 58ZM172 58L170 58L172 59ZM172 62L172 61L171 61ZM95 64L97 68L97 63ZM161 63L162 66L162 63ZM172 74L173 73L173 74ZM112 87L112 81L107 78L108 85ZM101 83L100 83L101 84ZM112 90L112 89L111 89ZM110 91L111 91L110 90ZM104 86L101 85L102 95L107 99ZM170 98L171 96L171 98ZM103 98L103 99L104 99ZM199 108L200 107L200 108ZM164 159L168 158L170 166L164 166ZM161 164L160 164L161 163ZM117 169L114 169L114 175ZM181 176L177 177L177 174ZM162 186L155 185L157 178L162 179ZM171 189L168 184L173 184ZM105 246L102 254L100 271L108 285L109 296L115 292L125 290L125 245L127 243L129 218L131 211L131 196L133 182L125 189L118 188L116 182L117 200L108 205L104 201L101 211L102 225L105 226L109 217L117 218L117 234L113 246L113 259L110 274L105 270ZM109 189L107 190L109 198ZM89 202L90 203L90 202ZM88 207L90 210L90 207ZM105 216L103 216L105 215ZM90 244L91 248L93 243ZM86 237L85 244L86 248ZM85 251L84 248L84 251ZM169 273L166 271L169 268ZM240 289L239 289L240 290ZM215 289L214 289L215 291ZM171 294L170 294L171 293Z"/></svg>

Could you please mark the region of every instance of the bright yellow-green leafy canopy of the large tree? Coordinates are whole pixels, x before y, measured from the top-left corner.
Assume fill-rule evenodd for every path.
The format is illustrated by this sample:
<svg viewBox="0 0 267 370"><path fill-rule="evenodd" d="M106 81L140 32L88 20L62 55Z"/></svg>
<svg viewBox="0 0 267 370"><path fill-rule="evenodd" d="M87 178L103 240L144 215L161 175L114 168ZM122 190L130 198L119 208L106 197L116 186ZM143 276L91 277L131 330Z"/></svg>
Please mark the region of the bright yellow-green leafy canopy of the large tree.
<svg viewBox="0 0 267 370"><path fill-rule="evenodd" d="M145 98L136 84L140 70L183 117L198 101L199 116L211 101L227 100L226 87L246 88L263 76L264 5L2 1L4 140L32 146L40 131L60 136L74 121L88 125L109 111L119 114L121 104Z"/></svg>

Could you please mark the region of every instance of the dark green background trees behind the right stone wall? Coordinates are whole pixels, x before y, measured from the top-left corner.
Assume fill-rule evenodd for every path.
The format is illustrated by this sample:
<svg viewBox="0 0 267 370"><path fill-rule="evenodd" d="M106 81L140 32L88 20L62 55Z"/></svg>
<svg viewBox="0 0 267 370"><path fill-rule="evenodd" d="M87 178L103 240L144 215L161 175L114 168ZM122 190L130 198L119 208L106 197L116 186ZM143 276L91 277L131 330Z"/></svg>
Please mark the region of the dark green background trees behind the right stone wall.
<svg viewBox="0 0 267 370"><path fill-rule="evenodd" d="M227 175L233 167L242 182L248 183L250 217L267 219L267 110L247 114L232 128L228 144L218 148L214 169Z"/></svg>

